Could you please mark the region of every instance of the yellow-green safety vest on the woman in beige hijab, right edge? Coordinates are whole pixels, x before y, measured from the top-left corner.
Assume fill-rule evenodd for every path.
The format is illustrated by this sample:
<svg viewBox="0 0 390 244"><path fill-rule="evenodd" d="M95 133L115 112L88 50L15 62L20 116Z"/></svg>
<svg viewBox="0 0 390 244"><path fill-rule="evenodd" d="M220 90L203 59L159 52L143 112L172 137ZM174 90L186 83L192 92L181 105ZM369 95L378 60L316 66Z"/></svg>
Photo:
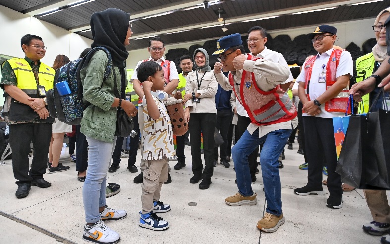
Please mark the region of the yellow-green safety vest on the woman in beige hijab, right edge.
<svg viewBox="0 0 390 244"><path fill-rule="evenodd" d="M373 53L368 53L366 55L360 56L356 60L356 82L360 82L367 77L369 77L373 72L375 68L375 59ZM364 113L368 112L369 108L369 101L370 101L370 94L366 94L362 97L363 104L364 104ZM361 113L359 111L362 110L360 108L361 105L359 105L358 113Z"/></svg>

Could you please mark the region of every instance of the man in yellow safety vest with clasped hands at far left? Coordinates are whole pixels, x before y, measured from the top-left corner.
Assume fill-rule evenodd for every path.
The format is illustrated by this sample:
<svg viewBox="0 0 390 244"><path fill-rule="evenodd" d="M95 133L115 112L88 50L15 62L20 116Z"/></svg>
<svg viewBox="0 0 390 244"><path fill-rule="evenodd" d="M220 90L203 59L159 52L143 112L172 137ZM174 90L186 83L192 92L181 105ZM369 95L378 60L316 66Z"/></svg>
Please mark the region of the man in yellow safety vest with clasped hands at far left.
<svg viewBox="0 0 390 244"><path fill-rule="evenodd" d="M9 125L12 169L18 185L15 195L24 198L31 185L40 188L52 185L43 179L43 174L54 122L46 107L46 91L53 88L55 71L40 61L46 53L41 37L27 34L22 37L20 46L25 57L3 63L0 86L6 96L3 116ZM31 141L34 156L30 169Z"/></svg>

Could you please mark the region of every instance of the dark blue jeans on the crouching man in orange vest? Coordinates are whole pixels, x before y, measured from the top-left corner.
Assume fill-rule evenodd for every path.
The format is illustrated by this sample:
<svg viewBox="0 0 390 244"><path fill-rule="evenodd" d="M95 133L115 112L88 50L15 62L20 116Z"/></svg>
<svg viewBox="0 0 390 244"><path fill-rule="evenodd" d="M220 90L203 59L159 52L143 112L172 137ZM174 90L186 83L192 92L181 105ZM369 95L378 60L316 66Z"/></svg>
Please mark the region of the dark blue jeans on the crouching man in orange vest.
<svg viewBox="0 0 390 244"><path fill-rule="evenodd" d="M291 129L279 129L259 138L259 130L253 132L252 135L246 130L231 150L238 192L243 196L251 196L253 191L248 156L264 143L260 153L260 163L267 200L266 211L276 216L282 214L278 158L290 134Z"/></svg>

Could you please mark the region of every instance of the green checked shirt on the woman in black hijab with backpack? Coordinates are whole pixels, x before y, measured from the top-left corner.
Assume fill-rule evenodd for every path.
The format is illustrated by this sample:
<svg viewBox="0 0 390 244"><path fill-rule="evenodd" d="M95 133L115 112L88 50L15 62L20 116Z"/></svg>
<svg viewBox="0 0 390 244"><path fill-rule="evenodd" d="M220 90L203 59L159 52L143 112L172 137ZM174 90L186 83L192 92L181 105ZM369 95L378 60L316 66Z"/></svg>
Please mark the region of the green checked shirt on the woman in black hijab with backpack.
<svg viewBox="0 0 390 244"><path fill-rule="evenodd" d="M114 102L114 76L120 91L119 68L112 67L110 75L103 83L103 73L107 66L107 55L97 51L87 67L80 71L83 81L83 96L91 105L84 111L80 131L86 136L113 143L116 129L117 109L111 107Z"/></svg>

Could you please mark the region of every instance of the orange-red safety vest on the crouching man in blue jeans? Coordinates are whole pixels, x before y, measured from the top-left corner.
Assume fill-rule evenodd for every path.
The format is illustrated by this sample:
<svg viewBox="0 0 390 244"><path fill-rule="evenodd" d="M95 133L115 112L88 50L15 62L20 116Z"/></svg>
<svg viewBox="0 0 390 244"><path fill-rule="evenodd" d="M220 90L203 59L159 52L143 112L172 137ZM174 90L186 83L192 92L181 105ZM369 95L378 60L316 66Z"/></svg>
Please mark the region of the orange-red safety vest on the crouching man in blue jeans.
<svg viewBox="0 0 390 244"><path fill-rule="evenodd" d="M259 58L248 54L248 60L257 59ZM248 113L251 123L259 126L270 125L290 121L297 116L295 106L280 85L271 91L263 91L257 86L254 73L245 70L242 72L241 84L234 84L231 73L229 82L238 101ZM239 94L236 92L238 87Z"/></svg>

